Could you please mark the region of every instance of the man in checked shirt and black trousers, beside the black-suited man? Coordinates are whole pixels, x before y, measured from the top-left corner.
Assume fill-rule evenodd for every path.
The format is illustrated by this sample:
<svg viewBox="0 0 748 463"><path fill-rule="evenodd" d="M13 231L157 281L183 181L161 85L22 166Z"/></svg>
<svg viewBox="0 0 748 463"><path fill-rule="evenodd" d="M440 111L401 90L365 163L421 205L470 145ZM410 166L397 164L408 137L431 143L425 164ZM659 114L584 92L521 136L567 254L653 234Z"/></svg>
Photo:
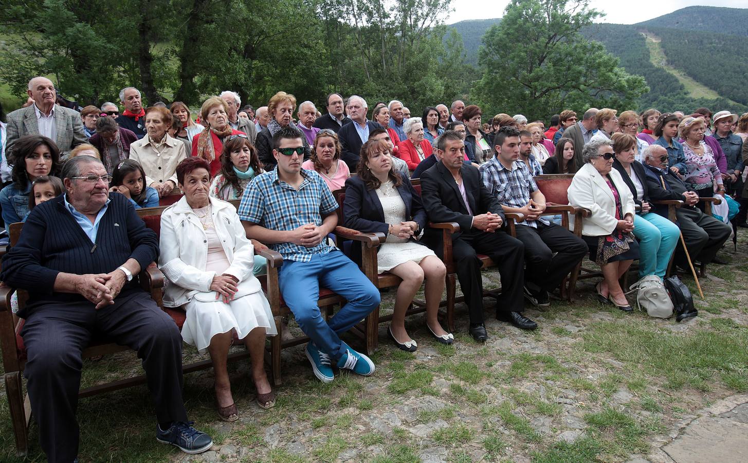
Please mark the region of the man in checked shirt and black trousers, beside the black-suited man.
<svg viewBox="0 0 748 463"><path fill-rule="evenodd" d="M548 291L582 260L586 243L574 233L540 215L545 211L545 196L538 189L530 168L519 159L519 131L502 127L494 135L496 155L480 166L480 177L504 209L520 212L525 220L518 224L517 239L524 243L524 295L536 307L548 307ZM554 254L555 253L555 254Z"/></svg>

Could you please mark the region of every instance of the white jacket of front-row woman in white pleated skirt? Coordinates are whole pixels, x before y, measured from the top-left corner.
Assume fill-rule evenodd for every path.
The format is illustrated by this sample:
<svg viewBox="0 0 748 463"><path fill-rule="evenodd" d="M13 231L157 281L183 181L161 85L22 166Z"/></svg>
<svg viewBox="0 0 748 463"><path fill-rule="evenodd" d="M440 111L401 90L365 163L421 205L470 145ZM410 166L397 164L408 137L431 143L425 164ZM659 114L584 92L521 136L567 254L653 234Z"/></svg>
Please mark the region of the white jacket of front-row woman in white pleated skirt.
<svg viewBox="0 0 748 463"><path fill-rule="evenodd" d="M254 246L247 239L236 209L215 197L212 205L213 224L228 261L226 274L239 280L237 297L260 291L260 281L252 275ZM161 254L159 269L167 278L164 292L165 307L179 307L191 301L198 292L210 292L215 272L206 272L208 260L207 236L200 219L192 212L186 197L166 208L161 215Z"/></svg>

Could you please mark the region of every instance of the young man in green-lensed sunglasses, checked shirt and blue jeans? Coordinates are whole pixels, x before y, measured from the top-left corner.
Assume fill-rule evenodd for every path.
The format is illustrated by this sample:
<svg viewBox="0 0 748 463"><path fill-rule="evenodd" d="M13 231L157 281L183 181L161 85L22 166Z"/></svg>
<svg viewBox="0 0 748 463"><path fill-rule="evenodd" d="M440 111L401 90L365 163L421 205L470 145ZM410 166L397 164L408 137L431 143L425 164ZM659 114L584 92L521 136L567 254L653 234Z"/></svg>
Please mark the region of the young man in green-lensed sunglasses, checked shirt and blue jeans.
<svg viewBox="0 0 748 463"><path fill-rule="evenodd" d="M371 375L370 358L351 349L340 335L379 305L379 292L355 263L327 243L337 225L338 205L322 177L301 168L301 135L285 127L272 141L277 167L255 177L239 205L247 237L283 256L281 293L301 331L310 337L306 355L314 375L322 382L333 381L333 365ZM348 301L329 322L317 307L320 286Z"/></svg>

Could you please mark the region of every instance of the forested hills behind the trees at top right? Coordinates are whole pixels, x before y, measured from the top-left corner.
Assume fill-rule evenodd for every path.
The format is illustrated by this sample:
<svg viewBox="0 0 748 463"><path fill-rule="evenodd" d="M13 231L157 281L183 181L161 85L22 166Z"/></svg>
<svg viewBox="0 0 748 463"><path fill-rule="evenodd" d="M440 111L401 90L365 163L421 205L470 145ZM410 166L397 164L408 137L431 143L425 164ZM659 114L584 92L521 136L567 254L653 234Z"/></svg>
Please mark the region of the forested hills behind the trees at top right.
<svg viewBox="0 0 748 463"><path fill-rule="evenodd" d="M477 64L483 34L500 20L479 19L450 25L462 35L468 64ZM640 110L653 106L663 111L708 106L744 112L748 111L748 91L745 90L745 76L748 75L747 24L748 9L687 7L635 25L598 23L584 28L582 32L589 39L603 43L609 52L621 60L622 67L628 73L639 74L646 79L650 91L638 100ZM689 29L689 34L684 35L683 29ZM663 68L663 64L657 63L657 60L653 63L642 32L661 39L666 64L720 97L705 98L699 92L690 92L673 73ZM714 95L714 92L710 93ZM694 97L694 94L698 97Z"/></svg>

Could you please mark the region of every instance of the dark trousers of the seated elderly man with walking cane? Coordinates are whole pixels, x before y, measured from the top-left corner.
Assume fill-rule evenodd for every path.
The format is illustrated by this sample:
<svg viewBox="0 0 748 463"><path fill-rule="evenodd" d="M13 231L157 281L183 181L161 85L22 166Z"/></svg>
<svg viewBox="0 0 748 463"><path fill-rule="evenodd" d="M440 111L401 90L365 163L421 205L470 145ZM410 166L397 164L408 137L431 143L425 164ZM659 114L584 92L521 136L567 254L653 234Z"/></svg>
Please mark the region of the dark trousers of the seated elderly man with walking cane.
<svg viewBox="0 0 748 463"><path fill-rule="evenodd" d="M675 209L675 218L678 219L691 260L698 260L701 263L710 263L714 259L732 231L732 227L728 224L718 221L711 215L706 215L695 207L683 206ZM675 248L675 263L688 268L680 240L678 240L678 247Z"/></svg>

